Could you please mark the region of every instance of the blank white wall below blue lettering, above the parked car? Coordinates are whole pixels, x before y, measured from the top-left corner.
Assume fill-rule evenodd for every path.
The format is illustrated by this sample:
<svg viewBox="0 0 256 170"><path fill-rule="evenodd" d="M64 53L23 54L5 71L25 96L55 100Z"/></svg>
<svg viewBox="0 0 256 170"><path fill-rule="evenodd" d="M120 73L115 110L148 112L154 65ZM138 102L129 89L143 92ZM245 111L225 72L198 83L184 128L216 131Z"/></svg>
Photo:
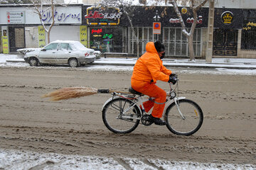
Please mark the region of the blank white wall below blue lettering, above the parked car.
<svg viewBox="0 0 256 170"><path fill-rule="evenodd" d="M50 30L50 41L54 40L80 41L80 26L53 26Z"/></svg>

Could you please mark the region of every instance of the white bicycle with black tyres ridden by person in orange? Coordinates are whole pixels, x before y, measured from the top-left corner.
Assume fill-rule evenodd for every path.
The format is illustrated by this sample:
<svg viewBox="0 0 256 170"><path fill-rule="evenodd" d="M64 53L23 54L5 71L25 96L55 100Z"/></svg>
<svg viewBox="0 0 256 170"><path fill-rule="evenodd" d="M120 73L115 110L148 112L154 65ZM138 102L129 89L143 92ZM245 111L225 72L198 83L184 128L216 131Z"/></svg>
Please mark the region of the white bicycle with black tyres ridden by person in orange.
<svg viewBox="0 0 256 170"><path fill-rule="evenodd" d="M203 111L194 101L178 97L178 77L176 86L169 83L170 91L166 92L164 120L166 127L176 135L192 135L203 123ZM152 124L149 113L144 110L143 102L154 98L144 99L144 95L129 88L129 93L112 92L102 107L102 120L105 126L114 133L125 134L134 131L139 123L149 126ZM141 108L139 107L141 106Z"/></svg>

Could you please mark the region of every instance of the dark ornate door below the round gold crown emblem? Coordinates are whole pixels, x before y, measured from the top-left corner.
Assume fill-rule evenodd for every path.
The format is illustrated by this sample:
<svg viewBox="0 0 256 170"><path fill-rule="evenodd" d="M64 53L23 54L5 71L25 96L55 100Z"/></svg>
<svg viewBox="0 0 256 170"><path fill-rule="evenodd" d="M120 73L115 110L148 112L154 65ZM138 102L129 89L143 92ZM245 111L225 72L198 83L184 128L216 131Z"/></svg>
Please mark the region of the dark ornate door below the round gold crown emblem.
<svg viewBox="0 0 256 170"><path fill-rule="evenodd" d="M238 55L238 30L215 29L213 33L213 55Z"/></svg>

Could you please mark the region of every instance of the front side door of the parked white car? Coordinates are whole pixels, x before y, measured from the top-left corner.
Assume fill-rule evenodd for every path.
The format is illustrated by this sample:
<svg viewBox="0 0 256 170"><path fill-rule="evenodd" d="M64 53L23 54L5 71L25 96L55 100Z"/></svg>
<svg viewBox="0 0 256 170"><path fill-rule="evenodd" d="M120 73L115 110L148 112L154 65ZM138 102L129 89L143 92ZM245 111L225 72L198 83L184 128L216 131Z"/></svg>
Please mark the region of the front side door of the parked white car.
<svg viewBox="0 0 256 170"><path fill-rule="evenodd" d="M39 52L39 60L41 63L56 63L56 53L58 49L58 43L50 43L46 45L40 52Z"/></svg>

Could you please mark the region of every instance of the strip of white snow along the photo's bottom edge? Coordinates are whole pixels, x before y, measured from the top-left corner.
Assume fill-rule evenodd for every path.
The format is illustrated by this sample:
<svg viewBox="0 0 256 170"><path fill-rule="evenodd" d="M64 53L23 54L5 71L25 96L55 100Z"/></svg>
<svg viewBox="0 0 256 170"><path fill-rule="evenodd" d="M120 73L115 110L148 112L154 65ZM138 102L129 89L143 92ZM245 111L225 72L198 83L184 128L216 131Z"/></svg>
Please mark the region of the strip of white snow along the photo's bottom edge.
<svg viewBox="0 0 256 170"><path fill-rule="evenodd" d="M218 164L198 162L176 162L161 159L134 159L129 157L93 157L55 153L38 153L0 149L0 169L134 169L134 170L201 170L201 169L247 169L253 170L252 164Z"/></svg>

